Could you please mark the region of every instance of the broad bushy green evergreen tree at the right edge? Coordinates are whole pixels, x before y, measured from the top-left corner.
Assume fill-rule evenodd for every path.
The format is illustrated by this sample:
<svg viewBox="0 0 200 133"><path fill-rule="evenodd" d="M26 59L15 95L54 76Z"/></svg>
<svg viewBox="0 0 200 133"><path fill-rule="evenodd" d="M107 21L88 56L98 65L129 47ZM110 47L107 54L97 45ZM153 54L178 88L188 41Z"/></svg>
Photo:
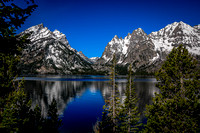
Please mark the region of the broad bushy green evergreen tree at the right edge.
<svg viewBox="0 0 200 133"><path fill-rule="evenodd" d="M147 106L145 132L199 132L200 80L196 60L180 45L156 73L153 104Z"/></svg>

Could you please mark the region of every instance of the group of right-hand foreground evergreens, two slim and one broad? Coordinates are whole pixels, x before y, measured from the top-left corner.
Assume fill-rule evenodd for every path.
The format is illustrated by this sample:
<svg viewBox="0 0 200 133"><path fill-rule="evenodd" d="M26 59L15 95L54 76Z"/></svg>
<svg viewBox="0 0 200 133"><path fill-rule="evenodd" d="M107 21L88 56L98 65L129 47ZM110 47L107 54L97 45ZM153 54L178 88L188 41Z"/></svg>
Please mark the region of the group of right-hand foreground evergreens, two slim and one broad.
<svg viewBox="0 0 200 133"><path fill-rule="evenodd" d="M106 101L102 120L94 132L200 132L200 80L197 61L188 50L179 45L173 48L166 61L156 72L160 94L144 112L147 124L142 124L133 87L132 68L129 66L126 98L119 102L115 84L115 55L111 67L112 96Z"/></svg>

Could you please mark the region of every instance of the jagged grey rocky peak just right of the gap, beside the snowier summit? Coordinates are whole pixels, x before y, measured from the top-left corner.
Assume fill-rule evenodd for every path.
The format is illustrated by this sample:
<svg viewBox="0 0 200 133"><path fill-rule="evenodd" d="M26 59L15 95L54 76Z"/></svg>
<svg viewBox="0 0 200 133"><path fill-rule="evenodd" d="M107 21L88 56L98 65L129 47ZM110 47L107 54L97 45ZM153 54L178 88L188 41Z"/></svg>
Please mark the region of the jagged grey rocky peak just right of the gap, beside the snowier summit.
<svg viewBox="0 0 200 133"><path fill-rule="evenodd" d="M157 56L153 42L141 28L134 30L132 34L128 33L124 39L115 36L98 62L109 64L114 53L118 65L133 63L136 68L149 64Z"/></svg>

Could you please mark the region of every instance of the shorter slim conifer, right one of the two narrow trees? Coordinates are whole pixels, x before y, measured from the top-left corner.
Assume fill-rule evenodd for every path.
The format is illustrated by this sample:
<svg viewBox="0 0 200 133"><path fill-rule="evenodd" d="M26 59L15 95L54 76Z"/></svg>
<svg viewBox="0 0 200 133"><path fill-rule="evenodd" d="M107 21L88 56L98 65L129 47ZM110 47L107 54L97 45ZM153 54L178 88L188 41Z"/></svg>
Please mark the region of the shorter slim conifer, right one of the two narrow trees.
<svg viewBox="0 0 200 133"><path fill-rule="evenodd" d="M132 66L129 66L127 86L126 86L126 98L124 104L122 105L121 111L121 131L122 132L136 132L138 130L138 122L140 119L140 114L137 107L137 95L135 92L135 87L132 79Z"/></svg>

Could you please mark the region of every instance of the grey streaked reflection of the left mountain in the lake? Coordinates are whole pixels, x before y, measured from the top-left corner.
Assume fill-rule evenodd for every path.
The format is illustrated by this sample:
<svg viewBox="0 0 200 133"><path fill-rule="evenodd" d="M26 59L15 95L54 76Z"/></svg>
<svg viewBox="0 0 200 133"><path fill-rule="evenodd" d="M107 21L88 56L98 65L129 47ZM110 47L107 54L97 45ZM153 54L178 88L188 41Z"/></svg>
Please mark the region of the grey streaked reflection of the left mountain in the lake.
<svg viewBox="0 0 200 133"><path fill-rule="evenodd" d="M68 102L74 97L80 96L87 87L85 82L80 81L27 81L26 91L32 99L32 106L38 104L46 116L48 105L53 98L58 104L58 113L62 114Z"/></svg>

